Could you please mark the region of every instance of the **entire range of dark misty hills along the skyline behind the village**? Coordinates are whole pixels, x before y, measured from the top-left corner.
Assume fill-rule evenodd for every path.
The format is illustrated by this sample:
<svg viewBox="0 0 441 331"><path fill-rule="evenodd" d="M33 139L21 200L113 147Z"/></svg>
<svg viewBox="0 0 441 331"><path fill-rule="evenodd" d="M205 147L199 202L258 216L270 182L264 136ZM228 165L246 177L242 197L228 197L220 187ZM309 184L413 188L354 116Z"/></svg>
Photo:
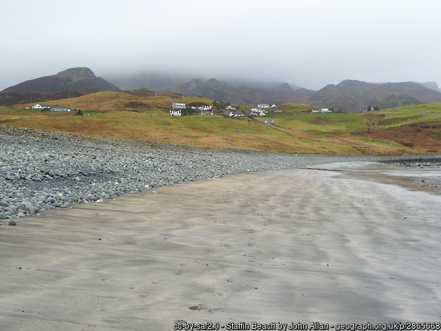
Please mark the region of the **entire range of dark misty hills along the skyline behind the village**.
<svg viewBox="0 0 441 331"><path fill-rule="evenodd" d="M111 78L111 77L110 77ZM237 79L226 83L218 79L188 79L184 74L139 73L118 74L110 83L96 77L89 68L70 68L52 76L24 81L0 92L0 105L43 102L79 97L99 91L121 92L123 90L148 88L152 91L181 94L189 97L205 97L217 101L245 106L258 103L280 105L286 102L306 103L318 108L334 108L342 112L360 112L368 106L395 108L415 103L441 102L441 92L435 82L415 83L367 83L344 80L329 84L318 91L299 88L294 84L248 81L250 86L236 85L247 82ZM178 83L176 83L178 82ZM175 84L176 85L172 85Z"/></svg>

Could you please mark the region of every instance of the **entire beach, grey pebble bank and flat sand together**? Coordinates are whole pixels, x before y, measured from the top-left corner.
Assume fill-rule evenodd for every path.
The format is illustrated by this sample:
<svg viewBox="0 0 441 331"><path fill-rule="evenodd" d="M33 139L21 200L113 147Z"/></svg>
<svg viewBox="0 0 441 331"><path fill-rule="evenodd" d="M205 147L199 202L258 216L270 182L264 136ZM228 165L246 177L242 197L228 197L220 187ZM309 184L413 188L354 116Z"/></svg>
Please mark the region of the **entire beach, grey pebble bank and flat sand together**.
<svg viewBox="0 0 441 331"><path fill-rule="evenodd" d="M2 330L441 322L438 156L0 129Z"/></svg>

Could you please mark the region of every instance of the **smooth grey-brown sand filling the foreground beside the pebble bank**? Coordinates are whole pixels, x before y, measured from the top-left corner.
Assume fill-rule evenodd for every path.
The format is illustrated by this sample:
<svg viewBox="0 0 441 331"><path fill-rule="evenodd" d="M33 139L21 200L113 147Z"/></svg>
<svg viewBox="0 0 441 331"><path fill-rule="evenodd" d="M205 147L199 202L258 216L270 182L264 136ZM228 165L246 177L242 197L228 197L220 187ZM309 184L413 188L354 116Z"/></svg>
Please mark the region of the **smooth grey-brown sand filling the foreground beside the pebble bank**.
<svg viewBox="0 0 441 331"><path fill-rule="evenodd" d="M2 220L0 329L440 322L441 196L385 177L254 172Z"/></svg>

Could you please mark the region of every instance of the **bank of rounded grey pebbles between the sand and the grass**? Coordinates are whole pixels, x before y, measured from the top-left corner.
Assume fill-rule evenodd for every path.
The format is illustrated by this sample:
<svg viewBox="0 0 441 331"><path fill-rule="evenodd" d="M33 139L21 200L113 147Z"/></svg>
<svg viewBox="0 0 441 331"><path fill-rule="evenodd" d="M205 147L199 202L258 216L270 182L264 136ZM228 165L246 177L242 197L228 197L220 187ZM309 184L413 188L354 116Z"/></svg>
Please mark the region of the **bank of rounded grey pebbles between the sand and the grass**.
<svg viewBox="0 0 441 331"><path fill-rule="evenodd" d="M430 161L422 161L422 160ZM435 160L435 161L433 161ZM0 219L228 174L309 168L318 163L441 163L441 156L331 156L203 150L150 141L96 139L0 126ZM14 223L14 222L12 222Z"/></svg>

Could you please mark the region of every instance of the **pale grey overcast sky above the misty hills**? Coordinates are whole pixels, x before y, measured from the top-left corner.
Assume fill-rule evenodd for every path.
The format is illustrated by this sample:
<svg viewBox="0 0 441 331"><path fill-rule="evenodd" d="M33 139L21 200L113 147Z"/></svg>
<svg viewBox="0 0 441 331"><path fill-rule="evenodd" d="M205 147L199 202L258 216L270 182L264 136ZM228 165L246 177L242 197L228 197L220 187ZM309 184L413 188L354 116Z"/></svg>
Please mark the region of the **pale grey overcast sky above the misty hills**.
<svg viewBox="0 0 441 331"><path fill-rule="evenodd" d="M73 68L441 83L440 0L0 0L0 90Z"/></svg>

